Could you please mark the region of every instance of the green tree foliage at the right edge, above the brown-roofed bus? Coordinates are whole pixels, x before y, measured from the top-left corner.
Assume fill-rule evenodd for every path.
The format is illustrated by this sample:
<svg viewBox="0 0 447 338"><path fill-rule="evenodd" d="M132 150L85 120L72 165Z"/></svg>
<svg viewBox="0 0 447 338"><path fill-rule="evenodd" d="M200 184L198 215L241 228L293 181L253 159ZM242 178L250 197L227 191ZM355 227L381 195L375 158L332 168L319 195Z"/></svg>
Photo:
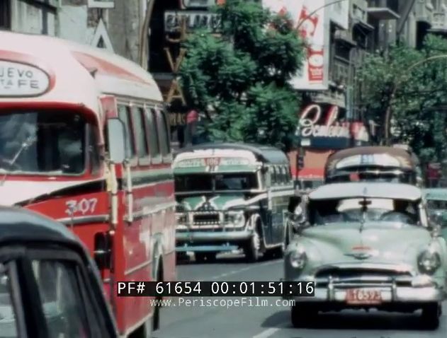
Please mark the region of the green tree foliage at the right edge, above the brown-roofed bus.
<svg viewBox="0 0 447 338"><path fill-rule="evenodd" d="M400 131L394 141L412 146L424 162L447 158L446 71L447 40L427 35L420 49L400 44L368 55L357 74L366 118L383 132L391 107L392 127Z"/></svg>

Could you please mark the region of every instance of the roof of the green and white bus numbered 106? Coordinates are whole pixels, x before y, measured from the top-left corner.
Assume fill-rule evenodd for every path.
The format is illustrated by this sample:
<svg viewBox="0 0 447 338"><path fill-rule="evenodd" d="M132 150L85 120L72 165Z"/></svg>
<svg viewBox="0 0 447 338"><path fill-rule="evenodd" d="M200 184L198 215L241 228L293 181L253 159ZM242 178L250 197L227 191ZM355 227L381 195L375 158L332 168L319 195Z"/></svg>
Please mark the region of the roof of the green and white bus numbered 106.
<svg viewBox="0 0 447 338"><path fill-rule="evenodd" d="M176 153L176 156L181 153L188 153L194 151L203 151L211 149L225 149L225 150L244 150L254 153L254 155L259 158L260 161L273 163L273 164L286 164L289 163L288 156L285 155L281 149L275 148L273 146L264 146L262 144L244 144L244 143L205 143L198 144L196 146L190 146L188 148L183 148L181 151Z"/></svg>

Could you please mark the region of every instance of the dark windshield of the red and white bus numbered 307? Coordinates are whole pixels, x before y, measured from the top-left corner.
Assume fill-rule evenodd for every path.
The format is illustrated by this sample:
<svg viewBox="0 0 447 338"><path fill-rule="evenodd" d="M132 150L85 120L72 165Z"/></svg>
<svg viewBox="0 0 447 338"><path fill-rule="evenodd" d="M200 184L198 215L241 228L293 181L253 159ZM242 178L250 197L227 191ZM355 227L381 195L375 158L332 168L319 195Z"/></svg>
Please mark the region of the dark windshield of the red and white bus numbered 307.
<svg viewBox="0 0 447 338"><path fill-rule="evenodd" d="M0 173L83 173L85 130L84 119L72 112L1 113Z"/></svg>

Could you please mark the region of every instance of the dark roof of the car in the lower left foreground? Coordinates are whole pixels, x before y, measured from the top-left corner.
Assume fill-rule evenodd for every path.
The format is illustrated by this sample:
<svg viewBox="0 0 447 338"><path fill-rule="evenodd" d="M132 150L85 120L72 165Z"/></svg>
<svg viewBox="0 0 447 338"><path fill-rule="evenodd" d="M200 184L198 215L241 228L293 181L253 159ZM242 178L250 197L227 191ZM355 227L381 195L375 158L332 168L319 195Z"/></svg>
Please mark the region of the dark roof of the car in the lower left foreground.
<svg viewBox="0 0 447 338"><path fill-rule="evenodd" d="M0 243L52 242L82 247L62 223L27 209L0 206Z"/></svg>

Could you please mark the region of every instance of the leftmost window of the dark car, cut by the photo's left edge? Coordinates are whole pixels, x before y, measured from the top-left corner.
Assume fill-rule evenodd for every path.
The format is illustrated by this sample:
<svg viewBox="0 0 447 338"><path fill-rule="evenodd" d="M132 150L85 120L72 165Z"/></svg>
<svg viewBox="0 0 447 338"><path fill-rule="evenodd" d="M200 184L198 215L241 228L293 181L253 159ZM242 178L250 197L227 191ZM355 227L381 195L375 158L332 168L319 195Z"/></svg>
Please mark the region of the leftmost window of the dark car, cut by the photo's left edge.
<svg viewBox="0 0 447 338"><path fill-rule="evenodd" d="M7 272L0 272L0 338L18 337L9 281Z"/></svg>

